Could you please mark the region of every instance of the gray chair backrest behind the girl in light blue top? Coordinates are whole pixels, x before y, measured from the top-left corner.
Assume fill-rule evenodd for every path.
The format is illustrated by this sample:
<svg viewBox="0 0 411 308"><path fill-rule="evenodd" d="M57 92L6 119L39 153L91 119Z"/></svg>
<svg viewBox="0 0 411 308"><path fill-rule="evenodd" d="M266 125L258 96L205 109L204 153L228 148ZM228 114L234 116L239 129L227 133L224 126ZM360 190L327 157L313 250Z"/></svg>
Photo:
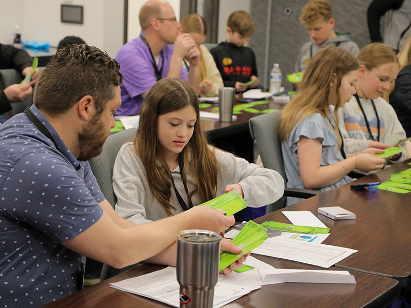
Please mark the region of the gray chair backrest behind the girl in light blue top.
<svg viewBox="0 0 411 308"><path fill-rule="evenodd" d="M264 167L277 171L287 182L281 141L278 136L282 113L282 111L276 111L258 115L250 119L249 126L251 137L257 142L257 148ZM273 206L268 206L267 212L284 206L285 197L274 203Z"/></svg>

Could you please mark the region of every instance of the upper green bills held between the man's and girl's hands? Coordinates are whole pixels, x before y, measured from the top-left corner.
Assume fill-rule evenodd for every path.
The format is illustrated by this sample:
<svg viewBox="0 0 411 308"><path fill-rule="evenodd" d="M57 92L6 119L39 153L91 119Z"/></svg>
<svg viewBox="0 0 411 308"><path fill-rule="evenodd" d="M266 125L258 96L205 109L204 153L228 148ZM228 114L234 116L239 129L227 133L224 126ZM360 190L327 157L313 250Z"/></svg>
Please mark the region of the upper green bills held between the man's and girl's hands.
<svg viewBox="0 0 411 308"><path fill-rule="evenodd" d="M200 205L208 205L211 208L220 210L226 216L231 216L247 207L247 203L241 198L237 190L231 190L226 194L218 196L210 201L204 202Z"/></svg>

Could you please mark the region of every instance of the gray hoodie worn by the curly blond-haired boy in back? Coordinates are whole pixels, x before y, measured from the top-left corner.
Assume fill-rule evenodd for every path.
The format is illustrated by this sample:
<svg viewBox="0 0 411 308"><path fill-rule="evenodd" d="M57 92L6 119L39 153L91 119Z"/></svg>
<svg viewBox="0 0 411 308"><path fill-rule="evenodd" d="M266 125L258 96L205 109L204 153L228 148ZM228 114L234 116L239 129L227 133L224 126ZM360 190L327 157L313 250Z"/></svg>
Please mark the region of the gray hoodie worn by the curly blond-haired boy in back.
<svg viewBox="0 0 411 308"><path fill-rule="evenodd" d="M356 43L351 41L349 34L340 34L320 45L311 40L301 47L300 54L298 54L297 61L295 62L295 72L297 73L305 70L311 58L321 49L328 46L338 46L351 52L354 56L357 56L360 53L360 48Z"/></svg>

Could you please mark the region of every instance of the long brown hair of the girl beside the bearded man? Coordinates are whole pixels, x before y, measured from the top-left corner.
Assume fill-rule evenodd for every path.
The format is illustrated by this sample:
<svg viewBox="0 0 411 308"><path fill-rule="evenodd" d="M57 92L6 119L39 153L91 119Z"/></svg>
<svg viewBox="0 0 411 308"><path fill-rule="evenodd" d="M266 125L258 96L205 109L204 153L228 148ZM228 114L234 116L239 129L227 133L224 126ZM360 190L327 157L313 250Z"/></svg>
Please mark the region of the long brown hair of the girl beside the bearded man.
<svg viewBox="0 0 411 308"><path fill-rule="evenodd" d="M176 208L170 203L171 171L160 149L158 118L160 115L192 106L197 114L194 132L179 156L184 157L183 181L186 175L194 177L195 189L189 199L198 192L201 202L215 198L217 190L217 159L209 148L200 127L200 108L193 88L183 80L165 78L148 91L140 110L139 128L134 148L144 164L152 194L164 208L167 216ZM201 189L200 189L201 187Z"/></svg>

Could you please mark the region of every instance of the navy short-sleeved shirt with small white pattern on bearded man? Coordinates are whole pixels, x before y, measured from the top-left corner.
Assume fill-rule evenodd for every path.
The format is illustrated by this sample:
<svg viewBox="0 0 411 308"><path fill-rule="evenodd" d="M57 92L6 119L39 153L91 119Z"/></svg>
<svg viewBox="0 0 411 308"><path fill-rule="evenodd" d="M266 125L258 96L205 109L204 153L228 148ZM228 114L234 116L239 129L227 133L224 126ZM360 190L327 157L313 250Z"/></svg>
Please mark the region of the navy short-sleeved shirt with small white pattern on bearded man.
<svg viewBox="0 0 411 308"><path fill-rule="evenodd" d="M24 113L0 126L0 307L38 307L80 290L85 258L61 243L103 214L88 162L30 109L58 149Z"/></svg>

